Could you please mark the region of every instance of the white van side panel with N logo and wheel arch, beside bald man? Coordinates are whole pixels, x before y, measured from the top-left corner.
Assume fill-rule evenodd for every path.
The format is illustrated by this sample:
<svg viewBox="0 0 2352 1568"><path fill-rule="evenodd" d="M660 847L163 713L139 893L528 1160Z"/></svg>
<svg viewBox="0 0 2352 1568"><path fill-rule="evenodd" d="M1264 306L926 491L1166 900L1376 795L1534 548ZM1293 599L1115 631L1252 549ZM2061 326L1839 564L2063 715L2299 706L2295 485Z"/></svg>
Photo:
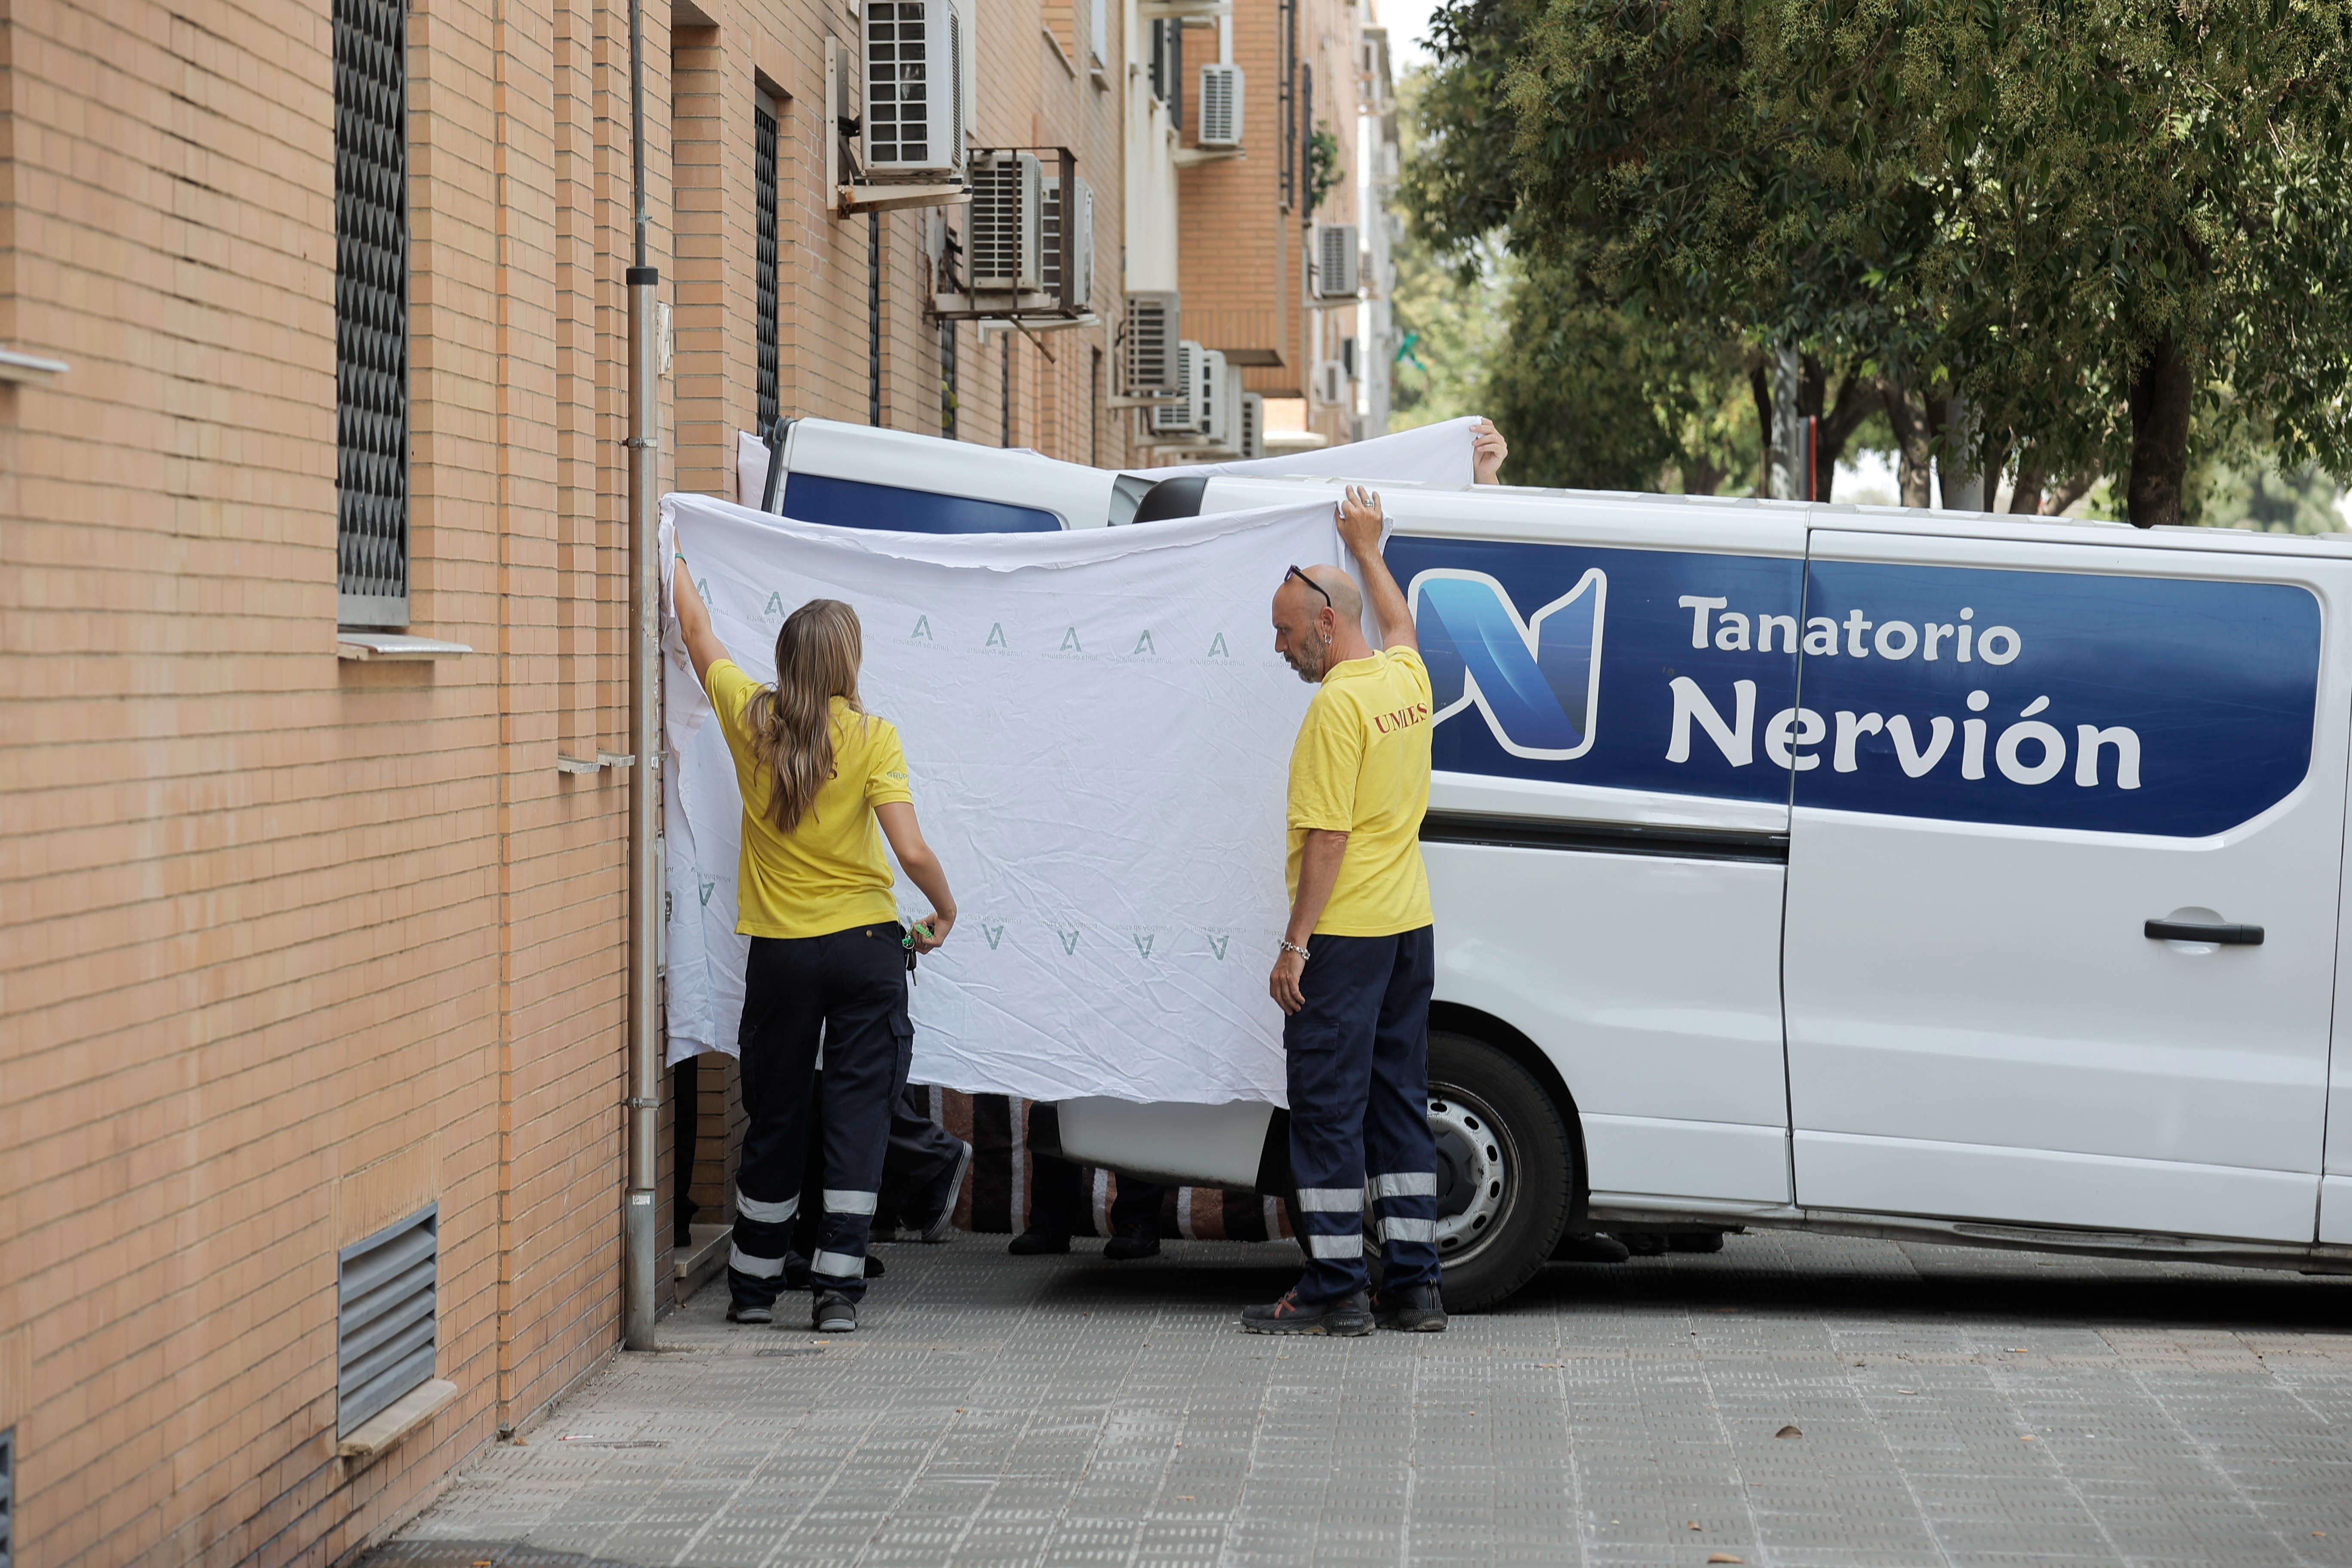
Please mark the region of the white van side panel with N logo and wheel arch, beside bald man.
<svg viewBox="0 0 2352 1568"><path fill-rule="evenodd" d="M1804 515L1388 505L1437 710L1437 1027L1458 1009L1550 1058L1595 1213L1785 1206L1771 724L1795 701Z"/></svg>

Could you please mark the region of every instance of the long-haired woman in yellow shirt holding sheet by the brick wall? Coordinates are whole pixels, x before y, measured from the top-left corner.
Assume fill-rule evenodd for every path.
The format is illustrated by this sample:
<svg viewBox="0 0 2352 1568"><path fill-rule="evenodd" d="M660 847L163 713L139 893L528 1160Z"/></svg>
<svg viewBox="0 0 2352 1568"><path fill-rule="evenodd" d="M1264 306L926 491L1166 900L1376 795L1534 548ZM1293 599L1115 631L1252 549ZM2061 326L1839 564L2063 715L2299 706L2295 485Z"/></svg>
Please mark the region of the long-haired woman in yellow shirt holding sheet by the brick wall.
<svg viewBox="0 0 2352 1568"><path fill-rule="evenodd" d="M809 1326L851 1333L866 1298L866 1239L891 1105L906 1088L915 1027L906 1016L910 952L955 926L938 856L922 842L898 731L858 703L858 611L809 599L776 632L776 684L743 672L710 630L710 611L677 557L677 630L717 708L743 788L736 931L750 936L743 976L743 1164L736 1173L736 1324L774 1321L793 1220L809 1164L809 1112L823 1041L823 1218ZM889 839L931 914L898 924Z"/></svg>

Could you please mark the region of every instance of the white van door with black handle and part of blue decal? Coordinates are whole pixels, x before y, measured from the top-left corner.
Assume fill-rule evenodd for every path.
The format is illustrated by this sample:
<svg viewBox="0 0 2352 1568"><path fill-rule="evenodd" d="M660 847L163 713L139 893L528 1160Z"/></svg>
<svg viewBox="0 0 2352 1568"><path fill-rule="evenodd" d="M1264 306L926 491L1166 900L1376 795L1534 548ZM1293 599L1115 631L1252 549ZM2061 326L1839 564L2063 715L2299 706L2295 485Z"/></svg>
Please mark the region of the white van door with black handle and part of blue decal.
<svg viewBox="0 0 2352 1568"><path fill-rule="evenodd" d="M2352 562L2051 534L1813 531L1797 1201L2307 1244Z"/></svg>

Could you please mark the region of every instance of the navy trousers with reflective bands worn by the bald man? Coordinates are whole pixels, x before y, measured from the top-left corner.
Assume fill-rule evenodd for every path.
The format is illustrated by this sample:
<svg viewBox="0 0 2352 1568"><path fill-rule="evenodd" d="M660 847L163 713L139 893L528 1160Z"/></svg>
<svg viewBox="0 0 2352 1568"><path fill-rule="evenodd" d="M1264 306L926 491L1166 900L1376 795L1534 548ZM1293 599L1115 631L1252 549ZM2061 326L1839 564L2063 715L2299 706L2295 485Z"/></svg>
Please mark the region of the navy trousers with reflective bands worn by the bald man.
<svg viewBox="0 0 2352 1568"><path fill-rule="evenodd" d="M1308 1272L1298 1300L1369 1281L1364 1194L1381 1241L1381 1288L1437 1284L1437 1145L1430 1138L1432 929L1312 936L1305 1006L1282 1025L1291 1091L1291 1182ZM1369 1166L1369 1168L1367 1168Z"/></svg>

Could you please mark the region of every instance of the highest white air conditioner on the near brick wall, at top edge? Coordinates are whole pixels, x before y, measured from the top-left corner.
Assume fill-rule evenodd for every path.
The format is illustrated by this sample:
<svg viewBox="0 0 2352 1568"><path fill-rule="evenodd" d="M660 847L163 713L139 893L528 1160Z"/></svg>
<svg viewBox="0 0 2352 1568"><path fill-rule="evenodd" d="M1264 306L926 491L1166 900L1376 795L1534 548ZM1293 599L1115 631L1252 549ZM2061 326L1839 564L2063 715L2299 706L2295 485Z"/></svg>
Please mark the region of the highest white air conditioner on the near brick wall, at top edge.
<svg viewBox="0 0 2352 1568"><path fill-rule="evenodd" d="M866 174L962 176L974 113L964 0L870 0L863 49Z"/></svg>

